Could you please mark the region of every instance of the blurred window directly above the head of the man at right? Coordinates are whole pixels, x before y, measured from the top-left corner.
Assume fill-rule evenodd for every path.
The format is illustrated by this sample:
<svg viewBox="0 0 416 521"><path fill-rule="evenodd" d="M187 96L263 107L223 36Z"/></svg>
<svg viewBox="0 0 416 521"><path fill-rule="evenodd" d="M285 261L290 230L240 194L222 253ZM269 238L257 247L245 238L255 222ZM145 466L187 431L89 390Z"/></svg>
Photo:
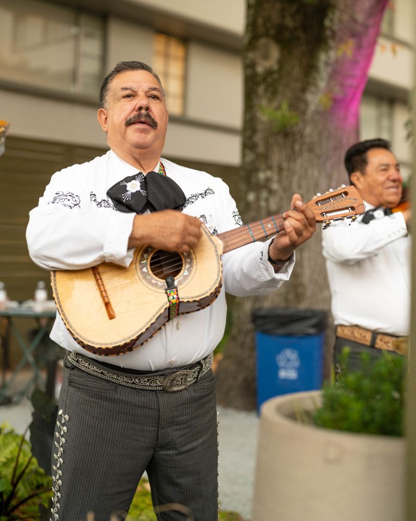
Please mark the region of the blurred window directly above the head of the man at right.
<svg viewBox="0 0 416 521"><path fill-rule="evenodd" d="M393 137L393 104L385 98L364 94L360 107L360 139Z"/></svg>

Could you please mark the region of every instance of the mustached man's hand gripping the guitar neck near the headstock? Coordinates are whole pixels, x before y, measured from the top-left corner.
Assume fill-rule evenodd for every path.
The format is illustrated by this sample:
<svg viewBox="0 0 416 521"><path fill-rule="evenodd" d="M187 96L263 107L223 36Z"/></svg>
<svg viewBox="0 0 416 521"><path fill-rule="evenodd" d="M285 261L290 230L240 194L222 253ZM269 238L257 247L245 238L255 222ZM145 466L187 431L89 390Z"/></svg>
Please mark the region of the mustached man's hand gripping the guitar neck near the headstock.
<svg viewBox="0 0 416 521"><path fill-rule="evenodd" d="M315 215L312 210L302 202L299 194L294 194L292 209L284 212L284 231L276 235L269 247L269 256L276 262L284 262L289 259L297 246L310 239L315 233Z"/></svg>

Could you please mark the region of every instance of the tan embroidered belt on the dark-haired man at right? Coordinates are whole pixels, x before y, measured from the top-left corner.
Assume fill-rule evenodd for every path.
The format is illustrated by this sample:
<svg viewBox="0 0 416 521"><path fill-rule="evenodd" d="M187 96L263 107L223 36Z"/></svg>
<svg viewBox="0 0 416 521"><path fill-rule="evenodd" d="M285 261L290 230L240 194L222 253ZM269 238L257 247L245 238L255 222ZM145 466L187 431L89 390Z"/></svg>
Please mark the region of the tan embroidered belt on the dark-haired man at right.
<svg viewBox="0 0 416 521"><path fill-rule="evenodd" d="M376 333L358 326L336 326L335 334L339 338L368 345L372 348L394 351L407 355L409 337L395 337L391 334Z"/></svg>

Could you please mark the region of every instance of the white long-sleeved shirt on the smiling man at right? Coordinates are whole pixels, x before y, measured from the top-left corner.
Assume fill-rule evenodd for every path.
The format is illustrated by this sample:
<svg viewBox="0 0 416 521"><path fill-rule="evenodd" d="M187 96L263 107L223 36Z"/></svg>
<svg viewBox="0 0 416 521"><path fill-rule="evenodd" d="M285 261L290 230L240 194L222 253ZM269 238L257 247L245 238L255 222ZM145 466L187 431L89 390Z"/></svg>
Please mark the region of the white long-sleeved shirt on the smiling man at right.
<svg viewBox="0 0 416 521"><path fill-rule="evenodd" d="M374 206L366 203L366 209ZM322 231L322 251L336 325L409 334L410 237L401 212L368 224L335 221Z"/></svg>

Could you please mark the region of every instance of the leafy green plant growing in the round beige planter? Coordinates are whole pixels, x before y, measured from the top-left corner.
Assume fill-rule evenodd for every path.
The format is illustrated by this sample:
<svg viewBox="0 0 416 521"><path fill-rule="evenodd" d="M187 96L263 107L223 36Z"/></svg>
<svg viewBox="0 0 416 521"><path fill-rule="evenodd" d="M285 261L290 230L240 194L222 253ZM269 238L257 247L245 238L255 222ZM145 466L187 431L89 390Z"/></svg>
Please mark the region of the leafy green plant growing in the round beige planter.
<svg viewBox="0 0 416 521"><path fill-rule="evenodd" d="M322 390L313 414L319 427L402 436L406 358L384 353L374 361L362 355L359 370L348 370L349 350L342 354L341 374Z"/></svg>

